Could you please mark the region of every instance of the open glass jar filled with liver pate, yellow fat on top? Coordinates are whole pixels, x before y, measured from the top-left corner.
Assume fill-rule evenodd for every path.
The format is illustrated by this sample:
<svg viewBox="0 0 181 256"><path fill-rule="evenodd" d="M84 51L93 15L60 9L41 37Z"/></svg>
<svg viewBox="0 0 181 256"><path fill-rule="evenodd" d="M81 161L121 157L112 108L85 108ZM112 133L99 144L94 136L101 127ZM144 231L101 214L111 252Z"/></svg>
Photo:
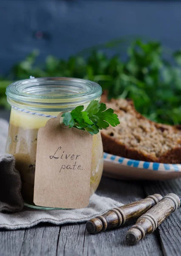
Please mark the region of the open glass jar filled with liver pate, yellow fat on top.
<svg viewBox="0 0 181 256"><path fill-rule="evenodd" d="M37 133L48 119L91 100L100 100L102 88L92 81L74 78L37 78L16 81L7 87L11 105L6 152L14 155L22 179L26 205L33 203ZM101 135L93 135L90 196L96 191L103 170ZM40 207L43 208L43 207Z"/></svg>

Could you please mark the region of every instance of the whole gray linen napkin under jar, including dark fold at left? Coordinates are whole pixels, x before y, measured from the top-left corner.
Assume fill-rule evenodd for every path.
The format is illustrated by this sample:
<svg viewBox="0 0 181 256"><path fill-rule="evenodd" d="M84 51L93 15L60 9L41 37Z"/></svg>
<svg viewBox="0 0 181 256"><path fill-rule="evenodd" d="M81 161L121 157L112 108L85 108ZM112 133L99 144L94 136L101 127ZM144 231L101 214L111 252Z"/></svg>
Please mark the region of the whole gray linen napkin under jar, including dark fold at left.
<svg viewBox="0 0 181 256"><path fill-rule="evenodd" d="M0 119L0 154L5 149L7 132L8 123ZM20 195L21 180L19 173L14 168L14 157L8 154L0 156L0 186L2 186L0 188L0 209L13 212L0 213L0 227L9 230L33 227L40 222L49 222L57 225L81 223L102 215L109 209L122 205L111 198L94 194L90 198L88 207L84 209L38 210L24 207L20 212L15 212L23 207ZM5 191L8 191L6 195Z"/></svg>

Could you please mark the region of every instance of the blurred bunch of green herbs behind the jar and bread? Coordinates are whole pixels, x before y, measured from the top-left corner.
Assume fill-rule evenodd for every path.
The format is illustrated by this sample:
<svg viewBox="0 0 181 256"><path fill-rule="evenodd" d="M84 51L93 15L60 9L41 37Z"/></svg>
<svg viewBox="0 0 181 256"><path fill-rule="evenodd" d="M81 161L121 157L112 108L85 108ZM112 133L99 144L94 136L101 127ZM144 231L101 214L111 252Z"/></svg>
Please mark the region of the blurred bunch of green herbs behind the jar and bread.
<svg viewBox="0 0 181 256"><path fill-rule="evenodd" d="M112 41L104 47L120 47ZM98 48L82 51L68 60L48 56L45 63L36 64L38 51L16 64L8 78L27 79L29 76L66 76L89 79L99 83L109 98L133 99L136 109L156 122L181 124L181 51L165 49L159 42L134 40L122 54L109 57ZM119 48L117 49L119 52ZM8 107L8 78L0 80L0 105Z"/></svg>

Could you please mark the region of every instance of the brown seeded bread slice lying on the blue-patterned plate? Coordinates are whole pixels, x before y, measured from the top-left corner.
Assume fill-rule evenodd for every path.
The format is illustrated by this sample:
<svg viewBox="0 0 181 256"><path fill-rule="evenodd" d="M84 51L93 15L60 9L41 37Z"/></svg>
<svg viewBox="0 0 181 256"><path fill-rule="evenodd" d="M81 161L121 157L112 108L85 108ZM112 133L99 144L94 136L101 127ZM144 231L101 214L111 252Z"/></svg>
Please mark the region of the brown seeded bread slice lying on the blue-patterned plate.
<svg viewBox="0 0 181 256"><path fill-rule="evenodd" d="M106 102L120 124L101 131L104 151L120 157L158 163L181 163L179 127L150 121L134 108L131 100Z"/></svg>

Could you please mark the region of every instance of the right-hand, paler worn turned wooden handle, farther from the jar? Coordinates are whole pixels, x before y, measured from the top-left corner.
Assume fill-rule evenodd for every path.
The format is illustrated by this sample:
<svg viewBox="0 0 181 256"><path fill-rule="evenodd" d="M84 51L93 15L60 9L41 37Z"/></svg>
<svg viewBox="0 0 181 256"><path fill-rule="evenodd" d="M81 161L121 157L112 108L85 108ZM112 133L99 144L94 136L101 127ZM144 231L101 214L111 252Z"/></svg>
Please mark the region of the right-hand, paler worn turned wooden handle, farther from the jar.
<svg viewBox="0 0 181 256"><path fill-rule="evenodd" d="M172 212L180 207L181 201L178 195L170 193L152 209L143 214L136 224L127 231L128 244L136 244L145 235L152 233Z"/></svg>

